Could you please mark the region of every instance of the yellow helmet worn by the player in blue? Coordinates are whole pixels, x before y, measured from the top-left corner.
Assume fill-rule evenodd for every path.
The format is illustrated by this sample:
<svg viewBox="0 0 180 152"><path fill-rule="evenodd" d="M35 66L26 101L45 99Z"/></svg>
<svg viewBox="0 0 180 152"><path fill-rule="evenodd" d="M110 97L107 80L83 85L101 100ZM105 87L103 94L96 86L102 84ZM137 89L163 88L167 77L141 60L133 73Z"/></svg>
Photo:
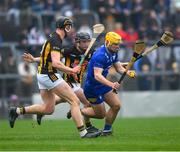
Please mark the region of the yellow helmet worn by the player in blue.
<svg viewBox="0 0 180 152"><path fill-rule="evenodd" d="M122 43L122 38L115 32L108 32L105 36L105 43L107 46L112 44L120 44Z"/></svg>

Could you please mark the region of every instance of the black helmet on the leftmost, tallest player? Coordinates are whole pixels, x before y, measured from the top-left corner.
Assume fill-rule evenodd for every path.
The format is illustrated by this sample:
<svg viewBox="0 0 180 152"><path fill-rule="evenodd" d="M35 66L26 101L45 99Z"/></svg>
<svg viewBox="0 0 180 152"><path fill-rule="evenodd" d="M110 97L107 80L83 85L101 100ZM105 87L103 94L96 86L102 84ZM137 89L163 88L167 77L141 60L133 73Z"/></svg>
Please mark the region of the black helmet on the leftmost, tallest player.
<svg viewBox="0 0 180 152"><path fill-rule="evenodd" d="M71 19L61 16L57 21L56 21L56 28L64 28L66 25L73 25L73 22Z"/></svg>

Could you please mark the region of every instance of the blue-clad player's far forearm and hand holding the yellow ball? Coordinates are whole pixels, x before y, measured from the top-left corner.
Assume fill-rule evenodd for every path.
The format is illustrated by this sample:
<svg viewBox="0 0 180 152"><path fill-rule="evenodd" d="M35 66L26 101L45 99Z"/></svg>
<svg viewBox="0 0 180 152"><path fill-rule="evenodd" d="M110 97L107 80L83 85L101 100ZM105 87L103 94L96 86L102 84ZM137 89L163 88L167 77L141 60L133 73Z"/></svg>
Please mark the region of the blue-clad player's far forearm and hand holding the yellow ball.
<svg viewBox="0 0 180 152"><path fill-rule="evenodd" d="M116 62L114 63L114 67L116 69L116 71L118 73L124 73L125 72L125 68L124 68L124 65L126 65L126 63L121 63L121 62ZM128 70L127 71L127 75L130 77L130 78L134 78L136 76L136 72L134 70Z"/></svg>

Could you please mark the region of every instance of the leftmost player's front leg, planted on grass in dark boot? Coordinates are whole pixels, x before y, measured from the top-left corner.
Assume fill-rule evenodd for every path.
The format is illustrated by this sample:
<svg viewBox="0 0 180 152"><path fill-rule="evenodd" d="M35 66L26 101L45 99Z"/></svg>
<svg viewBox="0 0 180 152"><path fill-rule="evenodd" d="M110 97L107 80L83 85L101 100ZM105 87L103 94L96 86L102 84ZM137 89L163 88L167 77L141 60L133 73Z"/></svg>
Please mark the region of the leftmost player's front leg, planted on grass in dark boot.
<svg viewBox="0 0 180 152"><path fill-rule="evenodd" d="M84 137L91 138L91 137L97 137L100 135L100 132L88 133L87 130L85 129L83 120L82 120L82 115L80 112L79 99L75 95L75 93L72 91L71 87L65 81L61 83L61 86L54 88L53 92L56 95L60 96L62 99L69 102L70 107L71 107L72 118L82 138Z"/></svg>

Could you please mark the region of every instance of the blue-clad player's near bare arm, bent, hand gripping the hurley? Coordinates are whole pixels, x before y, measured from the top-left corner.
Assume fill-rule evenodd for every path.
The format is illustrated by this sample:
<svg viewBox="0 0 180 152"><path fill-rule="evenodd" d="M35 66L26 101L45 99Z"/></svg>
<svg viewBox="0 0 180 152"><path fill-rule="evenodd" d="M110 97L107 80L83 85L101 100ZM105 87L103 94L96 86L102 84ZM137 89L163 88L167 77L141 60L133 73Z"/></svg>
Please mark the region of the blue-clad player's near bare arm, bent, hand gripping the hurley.
<svg viewBox="0 0 180 152"><path fill-rule="evenodd" d="M111 82L107 80L103 75L102 75L103 69L94 67L94 78L99 81L100 83L107 85L113 89L118 89L120 87L118 82Z"/></svg>

